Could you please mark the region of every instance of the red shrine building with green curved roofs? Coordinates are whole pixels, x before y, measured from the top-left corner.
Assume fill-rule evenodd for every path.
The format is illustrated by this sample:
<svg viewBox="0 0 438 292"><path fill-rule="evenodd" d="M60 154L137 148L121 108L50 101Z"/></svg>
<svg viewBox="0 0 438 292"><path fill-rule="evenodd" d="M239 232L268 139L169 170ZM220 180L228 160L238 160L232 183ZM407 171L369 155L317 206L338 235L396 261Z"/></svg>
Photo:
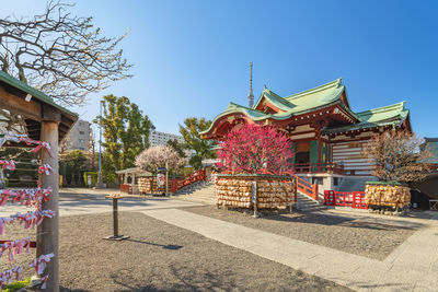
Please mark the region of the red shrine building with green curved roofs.
<svg viewBox="0 0 438 292"><path fill-rule="evenodd" d="M338 178L346 176L370 179L372 165L361 151L373 133L412 131L405 102L355 113L342 79L285 97L265 86L254 105L252 101L250 89L249 106L230 103L201 138L221 141L242 124L275 126L292 141L291 171L322 189L336 189Z"/></svg>

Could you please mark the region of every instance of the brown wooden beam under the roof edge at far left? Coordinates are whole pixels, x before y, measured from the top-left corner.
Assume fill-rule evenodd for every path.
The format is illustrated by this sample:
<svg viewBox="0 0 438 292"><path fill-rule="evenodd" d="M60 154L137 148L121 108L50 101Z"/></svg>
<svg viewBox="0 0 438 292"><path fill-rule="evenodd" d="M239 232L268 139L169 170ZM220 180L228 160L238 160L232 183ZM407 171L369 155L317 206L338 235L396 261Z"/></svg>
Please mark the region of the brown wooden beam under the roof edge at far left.
<svg viewBox="0 0 438 292"><path fill-rule="evenodd" d="M26 102L24 98L7 92L0 86L0 107L25 118L42 120L42 106L35 101Z"/></svg>

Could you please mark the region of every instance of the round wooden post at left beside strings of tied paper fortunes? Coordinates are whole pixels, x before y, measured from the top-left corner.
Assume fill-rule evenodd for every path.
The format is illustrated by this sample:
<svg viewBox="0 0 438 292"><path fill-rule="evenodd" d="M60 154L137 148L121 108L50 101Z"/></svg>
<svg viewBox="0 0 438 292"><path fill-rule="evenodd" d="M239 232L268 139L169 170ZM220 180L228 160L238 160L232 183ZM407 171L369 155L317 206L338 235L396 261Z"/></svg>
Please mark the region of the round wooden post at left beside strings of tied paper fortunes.
<svg viewBox="0 0 438 292"><path fill-rule="evenodd" d="M58 208L58 124L60 120L55 115L50 120L42 121L41 140L50 143L53 156L46 151L41 150L43 164L49 164L54 172L50 175L42 176L43 188L51 187L53 191L48 201L43 201L42 210L53 210L56 212L54 218L45 218L37 230L37 256L54 253L55 257L47 262L44 271L48 276L47 288L45 291L59 291L59 208Z"/></svg>

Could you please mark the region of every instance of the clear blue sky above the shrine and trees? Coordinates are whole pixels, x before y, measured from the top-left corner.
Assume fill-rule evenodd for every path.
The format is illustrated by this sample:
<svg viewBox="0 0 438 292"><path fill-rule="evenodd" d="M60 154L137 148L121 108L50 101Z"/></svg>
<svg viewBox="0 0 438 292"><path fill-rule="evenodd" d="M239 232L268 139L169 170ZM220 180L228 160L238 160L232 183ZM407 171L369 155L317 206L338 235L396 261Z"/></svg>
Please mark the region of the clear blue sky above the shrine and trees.
<svg viewBox="0 0 438 292"><path fill-rule="evenodd" d="M94 16L105 35L130 30L122 48L135 65L132 79L74 108L84 119L113 93L137 103L158 130L177 133L186 117L246 105L253 61L256 97L264 84L289 95L342 77L354 110L406 101L414 131L438 137L438 1L76 2L73 12ZM45 3L2 4L0 16Z"/></svg>

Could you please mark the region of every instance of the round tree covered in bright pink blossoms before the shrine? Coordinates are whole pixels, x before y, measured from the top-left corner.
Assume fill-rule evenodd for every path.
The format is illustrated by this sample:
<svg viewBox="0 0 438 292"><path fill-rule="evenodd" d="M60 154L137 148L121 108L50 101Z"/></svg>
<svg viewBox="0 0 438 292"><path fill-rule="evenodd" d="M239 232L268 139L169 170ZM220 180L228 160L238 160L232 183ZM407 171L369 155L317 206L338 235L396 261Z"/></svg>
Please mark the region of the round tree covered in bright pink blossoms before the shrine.
<svg viewBox="0 0 438 292"><path fill-rule="evenodd" d="M257 125L243 125L231 130L217 154L219 167L246 174L263 174L266 171L281 174L289 168L289 160L293 157L291 142L284 133Z"/></svg>

